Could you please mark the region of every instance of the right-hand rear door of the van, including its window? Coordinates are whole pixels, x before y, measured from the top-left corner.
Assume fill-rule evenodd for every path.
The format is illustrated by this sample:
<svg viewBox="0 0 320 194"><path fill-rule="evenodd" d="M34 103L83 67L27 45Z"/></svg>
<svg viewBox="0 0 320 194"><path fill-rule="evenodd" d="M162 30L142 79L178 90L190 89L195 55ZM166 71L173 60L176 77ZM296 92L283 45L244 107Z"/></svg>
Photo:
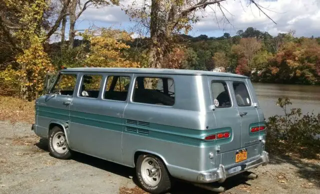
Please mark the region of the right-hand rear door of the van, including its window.
<svg viewBox="0 0 320 194"><path fill-rule="evenodd" d="M261 125L257 108L254 106L256 99L250 92L250 80L247 78L230 77L230 84L235 97L238 115L241 122L241 147L259 143L259 132L251 132L252 127ZM258 154L258 152L256 152Z"/></svg>

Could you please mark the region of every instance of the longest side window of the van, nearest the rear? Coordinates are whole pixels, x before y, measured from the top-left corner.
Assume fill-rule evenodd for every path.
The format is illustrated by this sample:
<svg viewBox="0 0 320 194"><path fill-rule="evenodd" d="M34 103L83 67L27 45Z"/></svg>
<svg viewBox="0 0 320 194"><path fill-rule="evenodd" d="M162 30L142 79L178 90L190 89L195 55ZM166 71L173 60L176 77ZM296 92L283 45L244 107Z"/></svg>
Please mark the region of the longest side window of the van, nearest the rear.
<svg viewBox="0 0 320 194"><path fill-rule="evenodd" d="M174 83L171 78L136 77L133 101L148 104L174 104Z"/></svg>

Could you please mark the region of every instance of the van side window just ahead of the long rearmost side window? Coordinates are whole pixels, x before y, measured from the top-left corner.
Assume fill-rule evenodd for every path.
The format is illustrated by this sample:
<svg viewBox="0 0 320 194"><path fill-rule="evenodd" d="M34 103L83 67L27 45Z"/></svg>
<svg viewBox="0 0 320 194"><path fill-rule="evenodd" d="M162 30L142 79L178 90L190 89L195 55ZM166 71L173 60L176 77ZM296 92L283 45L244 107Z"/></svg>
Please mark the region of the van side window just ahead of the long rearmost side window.
<svg viewBox="0 0 320 194"><path fill-rule="evenodd" d="M106 79L104 99L125 101L129 86L129 76L108 76Z"/></svg>

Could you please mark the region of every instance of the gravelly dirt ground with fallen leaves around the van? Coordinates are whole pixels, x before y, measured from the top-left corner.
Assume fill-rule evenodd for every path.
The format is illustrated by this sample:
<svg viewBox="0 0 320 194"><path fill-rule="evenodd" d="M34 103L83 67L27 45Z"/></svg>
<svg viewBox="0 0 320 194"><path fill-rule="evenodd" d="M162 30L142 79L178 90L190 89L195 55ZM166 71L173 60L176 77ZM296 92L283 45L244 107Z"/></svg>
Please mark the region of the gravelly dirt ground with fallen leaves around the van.
<svg viewBox="0 0 320 194"><path fill-rule="evenodd" d="M257 179L227 179L225 193L320 193L319 160L271 155L252 172ZM134 169L98 158L53 158L30 124L0 121L0 193L145 193L135 182ZM170 193L212 192L178 182Z"/></svg>

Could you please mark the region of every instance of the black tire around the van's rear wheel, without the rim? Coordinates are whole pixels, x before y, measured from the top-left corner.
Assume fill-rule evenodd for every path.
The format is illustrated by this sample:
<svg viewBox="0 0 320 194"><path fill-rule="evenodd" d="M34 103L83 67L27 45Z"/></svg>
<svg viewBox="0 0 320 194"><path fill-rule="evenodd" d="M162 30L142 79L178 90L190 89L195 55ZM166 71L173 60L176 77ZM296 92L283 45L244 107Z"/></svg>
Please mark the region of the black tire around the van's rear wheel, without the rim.
<svg viewBox="0 0 320 194"><path fill-rule="evenodd" d="M141 172L141 165L142 165L142 162L144 161L144 159L146 158L153 158L158 166L159 166L159 169L160 170L160 178L159 178L159 182L156 184L156 185L150 185L148 184L146 181L144 181L143 179L143 175L142 175L142 172ZM142 189L144 189L145 191L149 192L149 193L155 193L155 194L159 194L159 193L165 193L166 191L168 191L170 188L171 188L171 179L170 179L170 175L166 169L166 166L164 165L163 161L155 156L155 155L152 155L152 154L141 154L138 156L137 160L136 160L136 176L137 176L137 180L141 186Z"/></svg>

